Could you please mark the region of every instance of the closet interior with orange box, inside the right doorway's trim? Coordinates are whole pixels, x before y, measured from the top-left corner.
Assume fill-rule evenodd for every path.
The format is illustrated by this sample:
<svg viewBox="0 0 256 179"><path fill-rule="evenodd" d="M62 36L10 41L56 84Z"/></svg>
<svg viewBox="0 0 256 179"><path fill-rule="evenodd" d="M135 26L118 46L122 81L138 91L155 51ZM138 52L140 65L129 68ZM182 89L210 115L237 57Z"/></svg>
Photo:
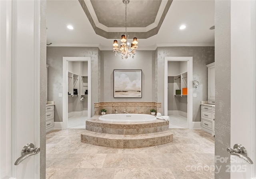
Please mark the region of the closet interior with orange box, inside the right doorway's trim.
<svg viewBox="0 0 256 179"><path fill-rule="evenodd" d="M168 62L170 128L188 128L188 62Z"/></svg>

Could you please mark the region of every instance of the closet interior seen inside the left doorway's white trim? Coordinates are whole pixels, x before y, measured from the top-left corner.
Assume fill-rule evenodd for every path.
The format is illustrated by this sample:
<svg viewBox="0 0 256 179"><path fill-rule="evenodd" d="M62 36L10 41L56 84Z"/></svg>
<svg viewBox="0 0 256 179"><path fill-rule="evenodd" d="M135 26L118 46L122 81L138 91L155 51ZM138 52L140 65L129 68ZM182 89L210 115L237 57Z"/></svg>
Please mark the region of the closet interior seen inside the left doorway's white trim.
<svg viewBox="0 0 256 179"><path fill-rule="evenodd" d="M68 128L85 128L88 119L88 62L68 61Z"/></svg>

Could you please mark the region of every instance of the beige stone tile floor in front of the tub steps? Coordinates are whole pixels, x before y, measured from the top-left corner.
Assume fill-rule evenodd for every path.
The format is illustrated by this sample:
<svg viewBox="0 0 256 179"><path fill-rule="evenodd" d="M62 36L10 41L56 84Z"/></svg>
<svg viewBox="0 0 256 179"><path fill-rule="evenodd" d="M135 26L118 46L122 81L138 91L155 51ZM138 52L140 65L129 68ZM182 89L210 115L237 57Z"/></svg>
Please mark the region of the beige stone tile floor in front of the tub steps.
<svg viewBox="0 0 256 179"><path fill-rule="evenodd" d="M214 179L214 137L170 129L173 142L115 149L80 142L84 129L46 134L46 179Z"/></svg>

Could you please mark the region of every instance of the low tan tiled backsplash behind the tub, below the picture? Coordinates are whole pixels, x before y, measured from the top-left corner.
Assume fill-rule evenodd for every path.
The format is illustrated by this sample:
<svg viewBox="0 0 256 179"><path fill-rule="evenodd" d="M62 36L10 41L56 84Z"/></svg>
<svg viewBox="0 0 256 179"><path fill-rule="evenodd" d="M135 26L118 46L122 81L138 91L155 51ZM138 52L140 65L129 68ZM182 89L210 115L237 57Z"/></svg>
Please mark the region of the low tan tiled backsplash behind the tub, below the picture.
<svg viewBox="0 0 256 179"><path fill-rule="evenodd" d="M100 102L94 103L94 115L100 115L100 110L106 109L107 114L118 113L127 111L128 113L135 114L150 114L150 109L155 109L161 113L161 103L156 102Z"/></svg>

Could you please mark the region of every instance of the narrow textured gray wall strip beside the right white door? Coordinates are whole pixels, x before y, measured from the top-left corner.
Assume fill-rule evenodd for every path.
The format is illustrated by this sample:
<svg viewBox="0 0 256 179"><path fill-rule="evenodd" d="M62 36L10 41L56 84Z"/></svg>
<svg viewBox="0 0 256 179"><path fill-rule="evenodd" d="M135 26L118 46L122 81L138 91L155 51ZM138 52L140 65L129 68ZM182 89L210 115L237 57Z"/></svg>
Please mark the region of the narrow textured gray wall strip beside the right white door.
<svg viewBox="0 0 256 179"><path fill-rule="evenodd" d="M215 1L215 156L227 157L228 162L215 161L220 172L216 179L230 178L226 165L230 165L230 86L231 86L231 28L230 1ZM217 171L215 169L215 171Z"/></svg>

